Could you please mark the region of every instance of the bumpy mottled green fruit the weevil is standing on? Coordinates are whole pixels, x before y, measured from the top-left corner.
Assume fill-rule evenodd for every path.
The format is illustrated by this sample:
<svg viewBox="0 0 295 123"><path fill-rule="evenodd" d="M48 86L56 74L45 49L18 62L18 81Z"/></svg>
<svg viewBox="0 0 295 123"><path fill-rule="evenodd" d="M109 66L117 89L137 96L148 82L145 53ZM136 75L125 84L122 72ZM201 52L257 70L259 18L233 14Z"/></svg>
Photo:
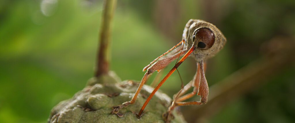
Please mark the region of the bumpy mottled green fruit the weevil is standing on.
<svg viewBox="0 0 295 123"><path fill-rule="evenodd" d="M99 82L102 79L105 83ZM138 87L138 82L132 80L117 81L113 73L99 79L90 79L87 86L72 99L60 102L51 110L48 122L164 122L162 114L167 111L171 99L161 92L157 92L149 102L141 119L136 117L146 97L153 91L153 88L147 85L143 86L134 104L120 110L119 113L122 113L123 117L111 114L112 107L130 100ZM173 111L173 116L175 118L171 122L185 122L182 115L176 111Z"/></svg>

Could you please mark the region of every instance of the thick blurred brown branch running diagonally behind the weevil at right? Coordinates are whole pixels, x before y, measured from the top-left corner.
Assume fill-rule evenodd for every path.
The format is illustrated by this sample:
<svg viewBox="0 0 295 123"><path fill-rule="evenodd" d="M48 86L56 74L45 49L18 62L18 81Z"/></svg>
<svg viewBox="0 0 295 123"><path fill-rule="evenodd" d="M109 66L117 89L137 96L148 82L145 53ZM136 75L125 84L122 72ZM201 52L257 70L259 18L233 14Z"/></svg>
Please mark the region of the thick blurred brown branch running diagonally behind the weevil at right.
<svg viewBox="0 0 295 123"><path fill-rule="evenodd" d="M225 104L257 88L262 82L281 73L295 61L293 39L274 38L264 49L267 50L267 55L211 86L206 105L184 110L187 122L204 122Z"/></svg>

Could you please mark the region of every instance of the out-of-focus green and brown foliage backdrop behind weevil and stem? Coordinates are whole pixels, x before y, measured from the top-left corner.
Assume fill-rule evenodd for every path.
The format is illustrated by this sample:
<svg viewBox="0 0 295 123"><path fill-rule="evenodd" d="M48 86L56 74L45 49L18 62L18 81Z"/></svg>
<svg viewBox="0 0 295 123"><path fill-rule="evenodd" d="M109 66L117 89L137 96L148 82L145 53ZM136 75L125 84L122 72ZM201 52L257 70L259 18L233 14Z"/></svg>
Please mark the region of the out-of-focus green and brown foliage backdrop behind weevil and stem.
<svg viewBox="0 0 295 123"><path fill-rule="evenodd" d="M85 87L94 74L102 9L102 0L0 1L1 123L47 122L54 105ZM227 38L208 60L210 86L260 58L263 43L294 38L295 1L119 0L110 69L122 80L141 80L142 68L181 41L191 18L213 23ZM195 66L189 58L179 67L184 83ZM294 73L293 63L202 121L295 122ZM174 73L160 89L172 97L180 85Z"/></svg>

